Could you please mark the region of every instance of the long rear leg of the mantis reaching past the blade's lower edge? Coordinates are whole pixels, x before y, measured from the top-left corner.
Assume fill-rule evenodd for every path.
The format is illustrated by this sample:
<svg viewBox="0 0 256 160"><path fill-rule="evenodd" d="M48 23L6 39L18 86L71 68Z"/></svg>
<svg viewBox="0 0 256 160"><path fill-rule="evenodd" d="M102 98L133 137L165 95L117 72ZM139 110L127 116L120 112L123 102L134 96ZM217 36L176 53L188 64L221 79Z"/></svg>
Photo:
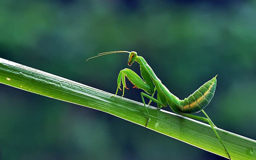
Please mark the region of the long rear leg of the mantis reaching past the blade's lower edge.
<svg viewBox="0 0 256 160"><path fill-rule="evenodd" d="M203 110L202 110L203 111ZM205 113L205 112L203 112ZM206 114L206 113L205 113ZM207 115L207 118L204 118L204 117L200 117L200 116L197 116L197 115L190 115L190 114L187 114L187 113L182 113L180 112L180 115L183 115L185 117L188 117L188 118L192 118L192 119L197 119L197 120L201 120L201 121L205 121L205 122L208 122L209 125L212 127L212 130L213 132L215 133L215 135L217 136L218 140L220 141L221 145L224 147L225 151L227 152L227 149L226 147L224 146L224 144L222 143L222 140L220 138L220 136L218 135L217 131L215 130L215 128L213 126L215 126L212 121L210 120L210 118L208 117ZM229 159L231 160L230 158L230 154L227 152L227 155L229 157Z"/></svg>

